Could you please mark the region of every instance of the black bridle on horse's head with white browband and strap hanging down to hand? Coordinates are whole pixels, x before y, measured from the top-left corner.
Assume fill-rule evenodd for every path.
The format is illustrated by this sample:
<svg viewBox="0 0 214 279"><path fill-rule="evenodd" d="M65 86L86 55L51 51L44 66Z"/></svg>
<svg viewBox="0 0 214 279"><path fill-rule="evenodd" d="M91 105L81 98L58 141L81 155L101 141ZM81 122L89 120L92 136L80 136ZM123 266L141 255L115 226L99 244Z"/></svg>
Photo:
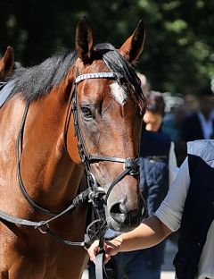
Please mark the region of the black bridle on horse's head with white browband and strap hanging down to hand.
<svg viewBox="0 0 214 279"><path fill-rule="evenodd" d="M111 190L113 187L122 180L126 175L136 175L139 169L138 158L121 158L116 156L103 156L103 155L89 155L86 149L86 144L84 138L82 136L82 132L79 125L78 119L78 83L82 80L87 79L113 79L115 78L115 74L113 72L96 72L96 73L87 73L78 75L75 80L74 90L72 94L72 113L74 118L74 125L75 125L75 135L78 138L78 154L80 156L81 162L84 165L84 171L86 173L88 187L92 188L91 193L88 195L88 199L93 203L95 208L95 213L97 216L97 224L99 225L96 228L96 232L94 233L93 238L95 239L95 235L97 235L97 231L99 232L99 246L98 246L98 253L96 255L96 265L95 265L95 275L96 278L103 279L103 273L105 277L107 277L105 268L103 266L103 257L104 257L104 250L103 250L103 238L104 233L106 232L107 226L105 221L104 215L104 206L107 204L107 199L110 196ZM70 120L69 120L70 122ZM67 129L66 129L67 131ZM66 142L66 141L65 141ZM102 187L98 185L95 180L95 175L91 172L91 164L95 162L101 161L109 161L109 162L116 162L116 163L123 163L124 164L124 171L120 173L116 179L111 182L111 185L107 192L103 190ZM87 230L89 232L89 230ZM90 236L89 236L90 238Z"/></svg>

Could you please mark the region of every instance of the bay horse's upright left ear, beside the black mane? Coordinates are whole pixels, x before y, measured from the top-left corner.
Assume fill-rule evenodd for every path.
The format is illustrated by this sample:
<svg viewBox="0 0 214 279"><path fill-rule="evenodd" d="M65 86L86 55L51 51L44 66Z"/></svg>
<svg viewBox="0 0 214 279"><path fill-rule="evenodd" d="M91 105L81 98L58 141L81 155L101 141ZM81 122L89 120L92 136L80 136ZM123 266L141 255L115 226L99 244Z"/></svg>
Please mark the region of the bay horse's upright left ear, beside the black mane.
<svg viewBox="0 0 214 279"><path fill-rule="evenodd" d="M85 17L78 22L76 30L76 50L78 57L83 63L90 63L93 53L93 36L92 30L86 24Z"/></svg>

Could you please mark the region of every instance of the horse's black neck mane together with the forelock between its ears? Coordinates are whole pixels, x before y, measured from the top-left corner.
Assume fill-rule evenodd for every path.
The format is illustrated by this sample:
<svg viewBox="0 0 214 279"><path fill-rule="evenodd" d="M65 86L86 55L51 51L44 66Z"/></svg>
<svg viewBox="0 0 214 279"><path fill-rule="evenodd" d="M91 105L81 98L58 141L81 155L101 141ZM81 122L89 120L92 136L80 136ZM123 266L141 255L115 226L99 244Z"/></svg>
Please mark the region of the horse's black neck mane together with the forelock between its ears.
<svg viewBox="0 0 214 279"><path fill-rule="evenodd" d="M144 94L140 80L131 64L122 55L119 55L119 52L111 44L100 44L95 49L110 71L115 73L115 79L119 83L121 77L128 81L128 84L132 86L137 103L144 110ZM14 82L11 97L21 94L29 102L44 97L49 94L53 87L61 83L76 59L75 51L64 50L61 54L53 55L36 66L16 69L9 78ZM122 83L120 84L123 86Z"/></svg>

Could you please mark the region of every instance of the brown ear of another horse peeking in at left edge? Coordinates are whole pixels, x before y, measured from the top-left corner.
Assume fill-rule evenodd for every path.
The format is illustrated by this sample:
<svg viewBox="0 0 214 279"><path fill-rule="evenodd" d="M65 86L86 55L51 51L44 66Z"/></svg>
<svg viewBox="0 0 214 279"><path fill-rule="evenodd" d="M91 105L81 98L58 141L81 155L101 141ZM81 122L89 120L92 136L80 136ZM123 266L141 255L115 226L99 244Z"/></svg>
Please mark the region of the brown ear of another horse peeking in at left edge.
<svg viewBox="0 0 214 279"><path fill-rule="evenodd" d="M13 48L8 46L4 55L0 58L0 81L4 81L6 77L12 72L14 66L14 52Z"/></svg>

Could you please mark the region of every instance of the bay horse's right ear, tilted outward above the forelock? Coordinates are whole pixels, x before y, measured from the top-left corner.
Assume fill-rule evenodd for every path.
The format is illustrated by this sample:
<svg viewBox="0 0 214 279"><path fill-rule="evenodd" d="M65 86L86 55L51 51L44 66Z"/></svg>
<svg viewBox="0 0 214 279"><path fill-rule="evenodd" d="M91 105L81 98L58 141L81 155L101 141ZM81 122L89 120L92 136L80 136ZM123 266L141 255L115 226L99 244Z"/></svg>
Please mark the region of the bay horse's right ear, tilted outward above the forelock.
<svg viewBox="0 0 214 279"><path fill-rule="evenodd" d="M143 51L144 37L144 23L139 21L134 33L119 48L120 55L123 55L130 63L135 62Z"/></svg>

